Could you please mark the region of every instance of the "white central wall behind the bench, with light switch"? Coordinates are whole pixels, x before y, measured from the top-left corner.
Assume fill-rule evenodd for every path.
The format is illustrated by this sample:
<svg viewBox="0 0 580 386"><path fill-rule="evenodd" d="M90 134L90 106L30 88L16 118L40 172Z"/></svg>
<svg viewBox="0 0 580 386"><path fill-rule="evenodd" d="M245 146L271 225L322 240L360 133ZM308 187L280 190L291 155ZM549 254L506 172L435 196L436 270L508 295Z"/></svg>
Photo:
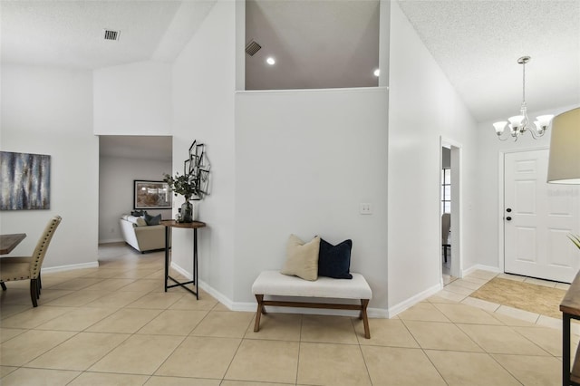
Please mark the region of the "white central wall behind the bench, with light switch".
<svg viewBox="0 0 580 386"><path fill-rule="evenodd" d="M387 92L384 88L238 92L237 302L285 262L288 236L353 239L351 268L387 298ZM373 214L359 214L371 203Z"/></svg>

